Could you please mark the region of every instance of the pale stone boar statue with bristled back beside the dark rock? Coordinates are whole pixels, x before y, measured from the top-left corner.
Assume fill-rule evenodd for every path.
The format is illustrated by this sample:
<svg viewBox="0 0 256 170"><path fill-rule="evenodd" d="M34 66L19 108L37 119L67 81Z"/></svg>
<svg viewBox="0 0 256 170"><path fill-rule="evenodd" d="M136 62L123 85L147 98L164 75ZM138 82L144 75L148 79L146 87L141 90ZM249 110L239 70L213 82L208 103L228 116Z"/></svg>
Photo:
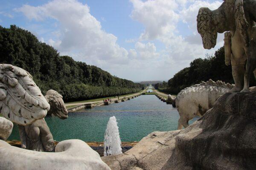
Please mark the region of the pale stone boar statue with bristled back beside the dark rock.
<svg viewBox="0 0 256 170"><path fill-rule="evenodd" d="M189 126L189 120L195 116L203 116L219 96L227 93L234 85L222 81L214 82L211 79L198 85L192 85L180 91L175 98L171 95L168 100L173 107L177 107L180 115L178 130Z"/></svg>

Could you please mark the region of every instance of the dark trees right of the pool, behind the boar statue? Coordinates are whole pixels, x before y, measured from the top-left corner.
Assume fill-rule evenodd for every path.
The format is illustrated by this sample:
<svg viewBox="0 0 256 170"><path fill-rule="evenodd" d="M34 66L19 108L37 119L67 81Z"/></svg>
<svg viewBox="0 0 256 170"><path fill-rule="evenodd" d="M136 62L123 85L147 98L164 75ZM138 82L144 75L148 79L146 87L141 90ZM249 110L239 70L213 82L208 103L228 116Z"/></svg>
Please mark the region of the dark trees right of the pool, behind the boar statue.
<svg viewBox="0 0 256 170"><path fill-rule="evenodd" d="M168 85L160 85L158 88L168 94L178 94L182 89L212 79L234 83L231 66L225 65L224 47L215 52L214 56L205 59L195 59L190 67L184 68L169 79ZM254 75L251 75L250 86L256 85Z"/></svg>

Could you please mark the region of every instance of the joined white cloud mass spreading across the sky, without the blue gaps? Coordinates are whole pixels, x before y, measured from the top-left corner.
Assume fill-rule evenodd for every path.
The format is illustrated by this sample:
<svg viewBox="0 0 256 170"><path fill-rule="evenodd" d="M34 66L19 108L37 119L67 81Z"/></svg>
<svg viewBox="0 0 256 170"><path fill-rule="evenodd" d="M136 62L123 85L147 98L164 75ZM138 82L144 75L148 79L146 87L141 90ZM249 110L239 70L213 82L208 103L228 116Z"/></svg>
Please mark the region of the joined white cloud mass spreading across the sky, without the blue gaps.
<svg viewBox="0 0 256 170"><path fill-rule="evenodd" d="M52 0L41 6L23 5L16 11L29 20L55 20L52 35L42 42L53 45L62 55L107 69L111 74L133 80L171 78L193 59L213 54L223 45L218 36L216 48L205 50L196 29L198 9L215 9L222 0L130 0L130 17L144 30L138 37L125 37L133 49L118 45L117 37L104 31L78 0ZM104 16L100 18L105 22ZM160 49L157 49L161 47ZM153 63L153 64L152 64ZM157 71L156 71L157 70Z"/></svg>

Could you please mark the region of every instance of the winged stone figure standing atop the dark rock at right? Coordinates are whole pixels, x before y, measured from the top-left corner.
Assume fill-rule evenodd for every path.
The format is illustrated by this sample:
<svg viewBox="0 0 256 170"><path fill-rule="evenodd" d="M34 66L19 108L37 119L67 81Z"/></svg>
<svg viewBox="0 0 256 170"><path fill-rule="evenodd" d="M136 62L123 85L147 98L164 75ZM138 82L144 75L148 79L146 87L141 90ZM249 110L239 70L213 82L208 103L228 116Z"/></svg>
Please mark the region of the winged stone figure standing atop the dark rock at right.
<svg viewBox="0 0 256 170"><path fill-rule="evenodd" d="M225 64L232 66L235 82L230 92L248 92L250 75L256 78L255 9L256 0L224 0L218 9L198 11L197 28L205 49L214 48L218 33L225 32Z"/></svg>

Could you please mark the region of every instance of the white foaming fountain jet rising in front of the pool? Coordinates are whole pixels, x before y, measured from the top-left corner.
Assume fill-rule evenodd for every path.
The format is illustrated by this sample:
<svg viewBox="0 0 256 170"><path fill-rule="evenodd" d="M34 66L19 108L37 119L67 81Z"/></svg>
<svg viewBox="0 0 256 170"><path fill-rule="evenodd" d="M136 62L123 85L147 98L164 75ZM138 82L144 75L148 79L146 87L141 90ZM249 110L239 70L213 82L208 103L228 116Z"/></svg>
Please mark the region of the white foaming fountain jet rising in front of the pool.
<svg viewBox="0 0 256 170"><path fill-rule="evenodd" d="M104 156L122 153L116 117L110 117L104 136Z"/></svg>

